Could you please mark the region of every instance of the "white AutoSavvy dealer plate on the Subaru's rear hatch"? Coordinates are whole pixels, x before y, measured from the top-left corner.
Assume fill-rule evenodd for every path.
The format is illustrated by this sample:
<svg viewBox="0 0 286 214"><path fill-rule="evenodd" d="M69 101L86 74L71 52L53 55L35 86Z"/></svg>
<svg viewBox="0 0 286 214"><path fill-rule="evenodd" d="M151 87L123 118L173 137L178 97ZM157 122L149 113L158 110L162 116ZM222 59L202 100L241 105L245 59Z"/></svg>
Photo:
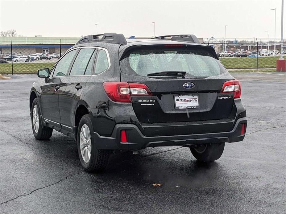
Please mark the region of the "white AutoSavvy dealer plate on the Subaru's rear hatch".
<svg viewBox="0 0 286 214"><path fill-rule="evenodd" d="M198 95L183 94L174 95L175 109L195 109L200 108Z"/></svg>

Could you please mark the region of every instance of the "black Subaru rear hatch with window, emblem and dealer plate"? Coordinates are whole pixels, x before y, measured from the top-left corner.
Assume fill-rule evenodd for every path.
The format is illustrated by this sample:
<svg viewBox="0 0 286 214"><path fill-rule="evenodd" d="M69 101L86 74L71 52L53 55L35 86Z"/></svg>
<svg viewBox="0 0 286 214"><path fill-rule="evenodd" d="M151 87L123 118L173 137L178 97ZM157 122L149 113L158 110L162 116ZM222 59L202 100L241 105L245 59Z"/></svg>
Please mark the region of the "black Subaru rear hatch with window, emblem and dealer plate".
<svg viewBox="0 0 286 214"><path fill-rule="evenodd" d="M142 126L233 121L234 93L221 90L226 81L234 78L226 72L212 47L136 46L125 52L120 68L122 82L141 83L151 91L146 96L131 95ZM226 126L223 130L229 129L229 124Z"/></svg>

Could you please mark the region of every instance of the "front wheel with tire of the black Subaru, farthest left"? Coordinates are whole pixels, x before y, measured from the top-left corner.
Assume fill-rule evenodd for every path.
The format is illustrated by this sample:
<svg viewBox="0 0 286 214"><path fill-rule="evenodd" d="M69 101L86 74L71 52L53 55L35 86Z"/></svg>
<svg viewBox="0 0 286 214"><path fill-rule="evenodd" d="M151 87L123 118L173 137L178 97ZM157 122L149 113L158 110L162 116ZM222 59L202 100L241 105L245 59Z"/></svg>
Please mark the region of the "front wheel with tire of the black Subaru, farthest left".
<svg viewBox="0 0 286 214"><path fill-rule="evenodd" d="M36 106L36 109L34 109L35 106ZM49 138L51 138L51 136L53 134L53 129L49 128L49 127L43 127L42 126L41 119L40 119L41 113L40 113L39 109L40 108L39 108L38 100L37 100L37 98L35 98L33 100L32 108L31 108L31 121L32 121L33 134L37 140L48 140ZM38 115L36 115L36 114L34 115L34 110L37 111ZM38 128L35 128L35 126L34 126L35 119L36 119L35 123L38 124Z"/></svg>

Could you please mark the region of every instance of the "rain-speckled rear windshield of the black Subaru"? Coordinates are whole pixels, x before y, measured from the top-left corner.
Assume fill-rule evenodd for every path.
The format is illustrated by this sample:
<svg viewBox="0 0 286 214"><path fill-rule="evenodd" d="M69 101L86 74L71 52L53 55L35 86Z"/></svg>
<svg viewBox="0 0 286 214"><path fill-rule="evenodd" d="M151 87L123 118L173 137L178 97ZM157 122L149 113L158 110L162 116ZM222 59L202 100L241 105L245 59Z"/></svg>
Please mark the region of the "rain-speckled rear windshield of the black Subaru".
<svg viewBox="0 0 286 214"><path fill-rule="evenodd" d="M209 47L136 47L120 62L122 72L140 76L164 71L184 71L188 76L214 76L226 72Z"/></svg>

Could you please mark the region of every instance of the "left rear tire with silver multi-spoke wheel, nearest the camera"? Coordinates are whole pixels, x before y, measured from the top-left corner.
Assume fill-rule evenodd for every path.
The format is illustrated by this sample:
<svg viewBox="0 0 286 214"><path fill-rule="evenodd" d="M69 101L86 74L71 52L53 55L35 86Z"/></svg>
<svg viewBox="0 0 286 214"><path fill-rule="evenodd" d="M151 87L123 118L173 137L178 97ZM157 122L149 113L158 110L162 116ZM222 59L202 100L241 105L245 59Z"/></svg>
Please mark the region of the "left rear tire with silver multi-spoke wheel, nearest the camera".
<svg viewBox="0 0 286 214"><path fill-rule="evenodd" d="M79 122L77 130L77 150L81 166L85 171L100 172L107 167L109 151L97 149L93 137L92 122L88 114L85 114Z"/></svg>

